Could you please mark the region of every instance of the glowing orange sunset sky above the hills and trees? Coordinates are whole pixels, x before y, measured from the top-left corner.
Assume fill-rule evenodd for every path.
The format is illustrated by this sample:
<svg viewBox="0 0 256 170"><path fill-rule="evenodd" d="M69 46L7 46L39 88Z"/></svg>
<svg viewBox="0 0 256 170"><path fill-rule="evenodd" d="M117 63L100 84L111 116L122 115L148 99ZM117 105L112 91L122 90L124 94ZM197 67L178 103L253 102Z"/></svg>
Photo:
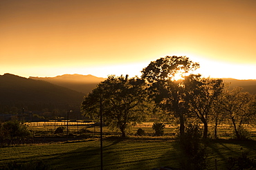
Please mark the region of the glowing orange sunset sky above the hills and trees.
<svg viewBox="0 0 256 170"><path fill-rule="evenodd" d="M255 0L1 0L0 75L140 76L164 56L256 79Z"/></svg>

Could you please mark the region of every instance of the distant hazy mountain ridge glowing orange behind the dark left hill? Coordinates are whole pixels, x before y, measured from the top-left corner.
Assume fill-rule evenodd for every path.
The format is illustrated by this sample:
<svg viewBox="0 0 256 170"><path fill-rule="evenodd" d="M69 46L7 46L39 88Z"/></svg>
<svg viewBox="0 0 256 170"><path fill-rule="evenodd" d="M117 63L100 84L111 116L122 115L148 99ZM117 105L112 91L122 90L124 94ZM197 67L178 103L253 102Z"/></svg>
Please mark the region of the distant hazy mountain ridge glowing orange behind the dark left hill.
<svg viewBox="0 0 256 170"><path fill-rule="evenodd" d="M67 87L73 89L77 92L82 92L88 94L94 89L98 83L106 80L106 78L100 78L92 75L82 75L82 74L64 74L62 76L55 77L33 77L29 78L33 80L47 81L55 85L60 85L62 87Z"/></svg>

